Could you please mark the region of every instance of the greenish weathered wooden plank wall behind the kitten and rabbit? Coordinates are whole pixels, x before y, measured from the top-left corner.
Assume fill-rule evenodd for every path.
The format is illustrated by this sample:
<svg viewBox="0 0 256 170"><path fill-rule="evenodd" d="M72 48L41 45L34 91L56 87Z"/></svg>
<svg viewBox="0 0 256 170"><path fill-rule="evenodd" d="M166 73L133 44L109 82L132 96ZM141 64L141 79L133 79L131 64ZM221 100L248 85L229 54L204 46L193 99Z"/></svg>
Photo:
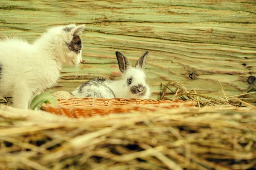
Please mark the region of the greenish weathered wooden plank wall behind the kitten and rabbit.
<svg viewBox="0 0 256 170"><path fill-rule="evenodd" d="M49 26L71 23L86 24L86 63L79 74L64 68L50 92L72 91L97 76L118 79L115 51L134 64L146 50L154 99L170 80L216 98L224 96L217 80L227 96L256 88L256 0L0 1L0 37L32 42Z"/></svg>

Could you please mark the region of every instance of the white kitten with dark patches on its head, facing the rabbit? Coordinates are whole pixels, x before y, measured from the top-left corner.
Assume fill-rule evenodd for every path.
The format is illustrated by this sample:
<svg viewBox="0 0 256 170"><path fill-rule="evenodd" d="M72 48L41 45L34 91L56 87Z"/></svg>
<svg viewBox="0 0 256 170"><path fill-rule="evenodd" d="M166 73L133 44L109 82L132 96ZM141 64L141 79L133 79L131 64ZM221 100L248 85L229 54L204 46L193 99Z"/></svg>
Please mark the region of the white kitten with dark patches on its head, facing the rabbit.
<svg viewBox="0 0 256 170"><path fill-rule="evenodd" d="M52 27L33 44L15 38L0 40L0 96L12 96L14 107L28 108L36 94L55 85L62 65L81 62L79 35L84 27Z"/></svg>

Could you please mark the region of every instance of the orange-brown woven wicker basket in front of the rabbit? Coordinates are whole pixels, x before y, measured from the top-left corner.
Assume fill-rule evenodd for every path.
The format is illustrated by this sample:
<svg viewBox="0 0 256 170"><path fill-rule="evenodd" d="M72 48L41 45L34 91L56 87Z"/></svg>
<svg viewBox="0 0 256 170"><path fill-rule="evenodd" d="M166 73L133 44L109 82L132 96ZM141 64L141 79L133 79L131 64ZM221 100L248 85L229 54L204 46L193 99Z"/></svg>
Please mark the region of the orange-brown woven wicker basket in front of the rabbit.
<svg viewBox="0 0 256 170"><path fill-rule="evenodd" d="M196 102L182 100L154 99L101 99L101 98L70 98L58 99L58 105L43 104L41 110L65 115L71 118L108 115L110 113L130 113L132 111L156 111L159 108L177 108L195 106Z"/></svg>

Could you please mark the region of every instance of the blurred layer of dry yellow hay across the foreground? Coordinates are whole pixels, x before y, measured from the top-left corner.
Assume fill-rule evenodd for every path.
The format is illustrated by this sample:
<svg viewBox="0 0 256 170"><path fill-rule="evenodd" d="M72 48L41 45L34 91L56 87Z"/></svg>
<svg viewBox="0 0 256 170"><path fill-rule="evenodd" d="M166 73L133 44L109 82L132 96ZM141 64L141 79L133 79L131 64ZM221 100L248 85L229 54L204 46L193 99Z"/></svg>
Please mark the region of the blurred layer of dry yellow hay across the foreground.
<svg viewBox="0 0 256 170"><path fill-rule="evenodd" d="M253 108L180 107L70 119L0 105L0 169L251 170Z"/></svg>

